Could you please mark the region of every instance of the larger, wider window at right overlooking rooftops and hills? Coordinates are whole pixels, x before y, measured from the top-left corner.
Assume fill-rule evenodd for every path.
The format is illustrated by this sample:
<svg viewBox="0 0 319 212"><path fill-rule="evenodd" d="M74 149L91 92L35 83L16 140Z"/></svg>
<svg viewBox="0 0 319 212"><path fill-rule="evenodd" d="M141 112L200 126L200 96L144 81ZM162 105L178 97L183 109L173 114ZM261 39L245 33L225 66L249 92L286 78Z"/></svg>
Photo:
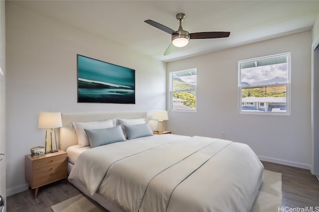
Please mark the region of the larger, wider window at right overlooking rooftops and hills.
<svg viewBox="0 0 319 212"><path fill-rule="evenodd" d="M238 61L240 113L290 114L290 61L291 53Z"/></svg>

